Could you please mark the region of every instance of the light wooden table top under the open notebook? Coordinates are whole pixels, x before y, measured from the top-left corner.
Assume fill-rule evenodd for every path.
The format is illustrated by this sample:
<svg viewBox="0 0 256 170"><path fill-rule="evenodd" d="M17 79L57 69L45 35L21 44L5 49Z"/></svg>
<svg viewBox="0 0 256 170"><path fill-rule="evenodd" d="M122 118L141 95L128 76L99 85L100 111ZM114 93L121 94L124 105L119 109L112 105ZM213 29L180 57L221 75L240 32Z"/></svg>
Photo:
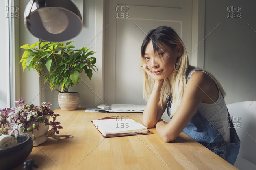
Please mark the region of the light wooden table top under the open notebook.
<svg viewBox="0 0 256 170"><path fill-rule="evenodd" d="M91 120L109 116L128 117L142 123L141 113L85 113L54 110L61 116L60 135L33 147L27 159L34 159L37 170L232 170L237 169L185 133L170 143L154 134L104 138ZM22 165L15 168L21 170Z"/></svg>

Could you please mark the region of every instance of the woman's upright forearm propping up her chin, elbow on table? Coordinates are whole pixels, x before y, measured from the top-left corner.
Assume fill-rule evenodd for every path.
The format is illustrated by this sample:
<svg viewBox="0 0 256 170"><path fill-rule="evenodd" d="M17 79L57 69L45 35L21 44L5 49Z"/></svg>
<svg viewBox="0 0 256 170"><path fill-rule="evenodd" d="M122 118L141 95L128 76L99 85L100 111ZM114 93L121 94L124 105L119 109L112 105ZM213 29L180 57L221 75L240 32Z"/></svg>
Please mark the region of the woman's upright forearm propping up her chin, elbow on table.
<svg viewBox="0 0 256 170"><path fill-rule="evenodd" d="M150 94L147 105L143 112L143 124L147 128L155 126L166 109L166 105L164 104L162 107L160 101L160 91L163 86L163 81L164 80L158 80L155 82L153 91Z"/></svg>

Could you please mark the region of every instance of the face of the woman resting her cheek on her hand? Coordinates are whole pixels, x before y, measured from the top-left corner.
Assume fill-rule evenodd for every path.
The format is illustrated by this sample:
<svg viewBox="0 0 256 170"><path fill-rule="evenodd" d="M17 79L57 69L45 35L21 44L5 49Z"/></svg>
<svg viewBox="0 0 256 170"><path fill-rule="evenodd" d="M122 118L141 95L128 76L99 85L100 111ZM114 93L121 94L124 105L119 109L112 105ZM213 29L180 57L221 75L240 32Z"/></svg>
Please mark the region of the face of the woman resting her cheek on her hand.
<svg viewBox="0 0 256 170"><path fill-rule="evenodd" d="M148 69L154 73L158 79L165 79L173 73L177 57L180 55L178 51L172 50L169 46L158 44L158 47L160 49L157 51L158 58L156 58L152 41L150 41L145 49L144 60Z"/></svg>

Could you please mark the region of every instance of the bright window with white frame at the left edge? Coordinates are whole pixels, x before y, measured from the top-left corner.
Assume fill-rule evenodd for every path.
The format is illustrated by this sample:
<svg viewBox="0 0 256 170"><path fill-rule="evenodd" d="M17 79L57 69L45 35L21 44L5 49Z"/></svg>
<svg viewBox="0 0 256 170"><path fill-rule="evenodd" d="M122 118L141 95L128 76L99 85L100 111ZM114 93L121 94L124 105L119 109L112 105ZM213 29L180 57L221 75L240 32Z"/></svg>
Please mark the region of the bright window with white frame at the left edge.
<svg viewBox="0 0 256 170"><path fill-rule="evenodd" d="M0 108L13 107L14 89L14 22L19 20L19 6L14 5L14 0L0 1Z"/></svg>

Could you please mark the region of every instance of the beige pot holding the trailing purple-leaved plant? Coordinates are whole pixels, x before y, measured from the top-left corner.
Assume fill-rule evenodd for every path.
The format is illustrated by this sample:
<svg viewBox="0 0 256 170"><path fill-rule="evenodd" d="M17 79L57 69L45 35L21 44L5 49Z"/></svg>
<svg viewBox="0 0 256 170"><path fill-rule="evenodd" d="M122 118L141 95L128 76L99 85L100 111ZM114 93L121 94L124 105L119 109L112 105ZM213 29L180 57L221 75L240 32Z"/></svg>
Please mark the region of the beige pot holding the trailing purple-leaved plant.
<svg viewBox="0 0 256 170"><path fill-rule="evenodd" d="M49 118L50 115L47 115L45 118L48 119L48 122L50 122ZM32 122L32 124L36 124L38 129L33 129L33 134L35 136L35 140L33 140L33 146L38 146L39 144L45 143L48 139L48 137L39 137L42 135L45 135L46 132L49 130L49 125L45 126L45 123L40 123L40 122ZM32 132L27 132L28 135L32 137Z"/></svg>

